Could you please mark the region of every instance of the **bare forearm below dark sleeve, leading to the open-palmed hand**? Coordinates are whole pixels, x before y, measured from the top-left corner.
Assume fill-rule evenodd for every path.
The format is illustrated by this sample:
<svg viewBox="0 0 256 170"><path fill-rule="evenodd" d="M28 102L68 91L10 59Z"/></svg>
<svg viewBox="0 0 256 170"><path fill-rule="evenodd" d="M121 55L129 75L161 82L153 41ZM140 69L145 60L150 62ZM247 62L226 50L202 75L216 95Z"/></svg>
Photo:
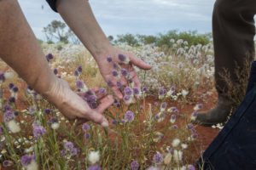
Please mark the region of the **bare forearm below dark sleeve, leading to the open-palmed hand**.
<svg viewBox="0 0 256 170"><path fill-rule="evenodd" d="M86 0L58 0L57 10L94 57L111 46Z"/></svg>

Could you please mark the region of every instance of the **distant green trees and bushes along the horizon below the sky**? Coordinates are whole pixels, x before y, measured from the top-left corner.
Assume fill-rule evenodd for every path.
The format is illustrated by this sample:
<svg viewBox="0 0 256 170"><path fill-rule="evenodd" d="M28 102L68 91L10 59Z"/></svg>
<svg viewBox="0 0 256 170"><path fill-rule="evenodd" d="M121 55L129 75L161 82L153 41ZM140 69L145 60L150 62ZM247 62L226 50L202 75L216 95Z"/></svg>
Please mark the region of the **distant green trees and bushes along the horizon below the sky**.
<svg viewBox="0 0 256 170"><path fill-rule="evenodd" d="M79 39L73 34L73 31L67 29L67 25L61 21L53 20L43 30L48 43L64 42L64 43L81 43ZM172 30L166 33L159 33L157 35L133 35L130 33L124 35L117 35L116 37L108 36L108 40L114 45L120 43L127 43L131 46L141 46L146 44L154 44L158 47L170 48L172 47L171 39L175 42L178 39L189 42L190 45L202 44L206 45L212 42L212 33L198 33L197 31L178 31ZM40 42L40 41L39 41ZM42 43L42 41L41 41Z"/></svg>

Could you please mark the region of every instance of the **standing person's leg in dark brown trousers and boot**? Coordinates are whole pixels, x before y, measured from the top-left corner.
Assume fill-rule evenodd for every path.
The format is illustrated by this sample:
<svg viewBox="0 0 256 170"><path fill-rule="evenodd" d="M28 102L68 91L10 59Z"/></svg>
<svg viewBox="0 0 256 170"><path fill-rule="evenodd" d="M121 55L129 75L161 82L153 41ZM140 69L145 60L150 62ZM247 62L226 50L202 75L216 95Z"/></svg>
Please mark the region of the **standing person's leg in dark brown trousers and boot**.
<svg viewBox="0 0 256 170"><path fill-rule="evenodd" d="M255 0L217 0L212 14L212 33L215 53L215 82L218 91L218 105L207 113L200 113L195 123L211 126L225 122L234 104L227 92L242 93L243 85L236 72L247 69L247 63L254 58L256 13ZM238 67L237 67L238 66ZM226 71L230 74L233 88L224 81ZM249 72L248 72L249 73ZM247 74L248 74L247 73ZM226 75L227 76L227 75ZM246 79L246 78L244 78ZM244 82L246 84L246 82ZM238 90L240 89L240 90Z"/></svg>

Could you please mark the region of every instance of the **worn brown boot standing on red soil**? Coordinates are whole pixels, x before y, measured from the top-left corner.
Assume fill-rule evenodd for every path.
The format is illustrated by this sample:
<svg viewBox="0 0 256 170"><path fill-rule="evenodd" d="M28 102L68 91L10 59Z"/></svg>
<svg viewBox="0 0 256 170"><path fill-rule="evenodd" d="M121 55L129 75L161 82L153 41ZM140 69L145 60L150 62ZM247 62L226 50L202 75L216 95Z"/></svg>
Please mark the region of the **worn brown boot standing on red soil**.
<svg viewBox="0 0 256 170"><path fill-rule="evenodd" d="M208 111L207 113L198 113L195 121L192 122L206 127L216 125L218 123L224 123L227 121L228 116L230 116L231 109L232 102L230 99L219 96L218 104L215 108Z"/></svg>

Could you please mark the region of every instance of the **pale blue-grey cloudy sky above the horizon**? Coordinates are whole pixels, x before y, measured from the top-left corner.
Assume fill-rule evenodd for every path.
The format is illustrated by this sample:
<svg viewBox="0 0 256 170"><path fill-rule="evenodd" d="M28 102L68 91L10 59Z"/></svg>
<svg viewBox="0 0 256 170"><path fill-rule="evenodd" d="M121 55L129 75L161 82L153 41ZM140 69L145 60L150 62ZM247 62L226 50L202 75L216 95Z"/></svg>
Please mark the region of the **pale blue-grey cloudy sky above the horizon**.
<svg viewBox="0 0 256 170"><path fill-rule="evenodd" d="M44 39L43 27L61 20L45 0L18 0L36 36ZM37 3L35 3L37 2ZM169 30L212 31L215 0L90 0L102 30L109 35L156 35ZM42 8L44 7L44 8Z"/></svg>

